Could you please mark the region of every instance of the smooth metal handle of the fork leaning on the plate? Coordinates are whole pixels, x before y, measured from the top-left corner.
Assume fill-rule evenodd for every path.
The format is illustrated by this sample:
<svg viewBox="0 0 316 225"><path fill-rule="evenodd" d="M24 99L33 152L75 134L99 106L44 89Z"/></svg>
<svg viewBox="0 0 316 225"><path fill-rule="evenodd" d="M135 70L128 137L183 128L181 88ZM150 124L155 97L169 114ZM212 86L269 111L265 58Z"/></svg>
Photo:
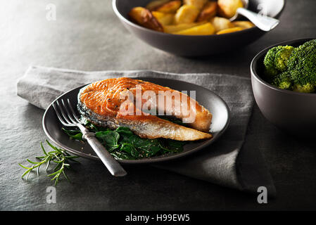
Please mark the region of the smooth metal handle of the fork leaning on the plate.
<svg viewBox="0 0 316 225"><path fill-rule="evenodd" d="M87 140L91 148L94 150L96 155L99 156L101 161L104 165L106 165L106 168L108 168L108 171L113 176L125 176L127 172L125 169L116 161L110 153L108 153L108 150L100 143L98 139L94 136L94 133L86 132L82 136L83 139Z"/></svg>

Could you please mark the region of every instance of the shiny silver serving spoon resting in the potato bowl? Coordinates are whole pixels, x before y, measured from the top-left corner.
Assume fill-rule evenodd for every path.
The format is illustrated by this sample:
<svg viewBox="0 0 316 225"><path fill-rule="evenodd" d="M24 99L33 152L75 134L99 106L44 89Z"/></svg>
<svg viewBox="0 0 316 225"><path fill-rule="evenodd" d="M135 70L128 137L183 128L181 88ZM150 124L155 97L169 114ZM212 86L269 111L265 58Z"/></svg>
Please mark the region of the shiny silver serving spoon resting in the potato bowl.
<svg viewBox="0 0 316 225"><path fill-rule="evenodd" d="M248 18L256 27L264 31L270 31L280 23L280 21L275 18L248 10L248 0L242 0L242 2L244 7L237 8L235 15L229 19L230 21L236 20L239 18L239 15L244 15L244 17Z"/></svg>

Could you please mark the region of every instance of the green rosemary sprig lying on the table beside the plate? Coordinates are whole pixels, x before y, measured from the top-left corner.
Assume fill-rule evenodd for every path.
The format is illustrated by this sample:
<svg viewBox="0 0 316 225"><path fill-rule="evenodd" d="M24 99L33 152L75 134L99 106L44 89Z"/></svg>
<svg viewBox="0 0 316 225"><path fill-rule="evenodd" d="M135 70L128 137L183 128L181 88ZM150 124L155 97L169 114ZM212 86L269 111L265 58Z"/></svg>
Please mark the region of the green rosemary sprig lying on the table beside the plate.
<svg viewBox="0 0 316 225"><path fill-rule="evenodd" d="M47 170L49 169L49 165L51 164L51 162L53 162L56 164L56 167L53 169L53 173L48 174L47 176L53 176L51 181L55 181L55 186L58 184L58 181L59 181L61 175L65 176L65 179L67 179L69 181L68 176L65 174L65 169L70 168L70 161L77 162L77 160L75 160L75 158L78 158L78 156L70 155L65 150L53 146L47 140L46 140L46 143L53 150L46 152L46 150L44 149L44 146L41 142L41 148L42 148L44 155L36 157L37 160L39 160L39 162L33 162L33 161L27 159L27 162L30 162L30 164L32 164L32 167L25 167L25 166L21 165L20 163L18 164L18 165L20 165L20 167L23 167L24 169L26 169L26 171L22 174L22 178L26 175L26 180L27 180L28 176L30 175L30 173L34 169L37 169L37 176L39 176L39 167L41 167L41 165L44 165L44 164L46 164L45 171L47 172ZM79 163L79 162L77 162L77 163Z"/></svg>

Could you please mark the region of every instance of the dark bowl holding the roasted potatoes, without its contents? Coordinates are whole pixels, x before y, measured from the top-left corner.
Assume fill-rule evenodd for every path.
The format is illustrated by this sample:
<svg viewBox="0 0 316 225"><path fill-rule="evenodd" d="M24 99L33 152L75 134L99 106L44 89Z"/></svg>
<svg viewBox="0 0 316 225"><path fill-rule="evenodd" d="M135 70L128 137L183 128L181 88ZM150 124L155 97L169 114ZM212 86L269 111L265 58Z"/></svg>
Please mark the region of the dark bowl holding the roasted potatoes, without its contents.
<svg viewBox="0 0 316 225"><path fill-rule="evenodd" d="M239 32L220 35L178 35L156 32L132 23L128 18L129 11L136 6L146 6L151 0L113 0L113 10L122 24L136 37L153 46L177 56L208 56L225 51L232 51L251 44L266 32L252 27ZM248 8L258 12L265 8L267 15L279 18L285 0L249 0Z"/></svg>

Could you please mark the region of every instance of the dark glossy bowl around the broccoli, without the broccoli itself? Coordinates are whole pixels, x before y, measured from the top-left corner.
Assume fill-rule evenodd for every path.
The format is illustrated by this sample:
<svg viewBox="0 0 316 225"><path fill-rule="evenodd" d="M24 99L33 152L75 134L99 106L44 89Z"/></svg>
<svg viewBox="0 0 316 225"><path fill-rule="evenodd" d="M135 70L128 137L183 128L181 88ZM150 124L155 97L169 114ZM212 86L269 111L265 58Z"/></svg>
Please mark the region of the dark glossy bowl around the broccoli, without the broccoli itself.
<svg viewBox="0 0 316 225"><path fill-rule="evenodd" d="M279 45L300 46L310 39L284 41L260 51L251 62L253 94L263 115L275 126L299 137L315 136L316 94L278 89L265 82L263 60L269 49Z"/></svg>

